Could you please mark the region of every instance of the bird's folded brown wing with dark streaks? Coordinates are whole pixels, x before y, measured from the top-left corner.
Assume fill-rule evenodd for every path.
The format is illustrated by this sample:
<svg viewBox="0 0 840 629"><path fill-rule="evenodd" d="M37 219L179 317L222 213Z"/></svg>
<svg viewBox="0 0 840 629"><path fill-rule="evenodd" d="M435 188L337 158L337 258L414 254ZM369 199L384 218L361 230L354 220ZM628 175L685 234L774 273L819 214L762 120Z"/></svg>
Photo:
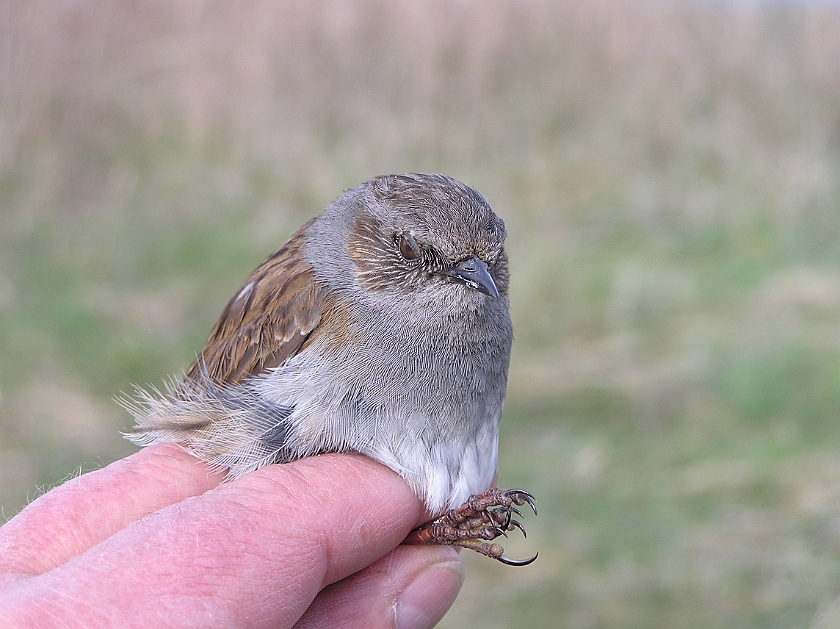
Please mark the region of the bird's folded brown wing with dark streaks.
<svg viewBox="0 0 840 629"><path fill-rule="evenodd" d="M324 301L312 267L303 259L311 223L251 273L228 302L188 377L206 369L213 380L234 384L277 367L300 349L318 325Z"/></svg>

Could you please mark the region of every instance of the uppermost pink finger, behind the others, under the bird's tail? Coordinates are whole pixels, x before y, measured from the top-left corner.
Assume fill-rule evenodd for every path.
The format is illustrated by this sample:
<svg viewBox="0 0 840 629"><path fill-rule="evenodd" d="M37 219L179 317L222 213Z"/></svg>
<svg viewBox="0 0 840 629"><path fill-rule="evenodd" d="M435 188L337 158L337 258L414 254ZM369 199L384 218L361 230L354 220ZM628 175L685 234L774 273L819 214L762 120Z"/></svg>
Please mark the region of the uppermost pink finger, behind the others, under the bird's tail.
<svg viewBox="0 0 840 629"><path fill-rule="evenodd" d="M173 445L145 448L74 478L0 528L0 583L51 570L131 522L202 494L221 479Z"/></svg>

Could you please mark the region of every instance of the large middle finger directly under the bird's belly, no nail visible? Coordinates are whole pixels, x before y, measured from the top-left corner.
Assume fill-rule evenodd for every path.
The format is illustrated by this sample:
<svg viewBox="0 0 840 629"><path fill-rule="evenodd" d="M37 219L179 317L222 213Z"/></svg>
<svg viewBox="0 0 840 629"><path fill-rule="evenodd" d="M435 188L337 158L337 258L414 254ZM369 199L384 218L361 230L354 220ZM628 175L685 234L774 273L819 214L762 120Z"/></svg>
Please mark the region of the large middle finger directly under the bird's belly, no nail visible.
<svg viewBox="0 0 840 629"><path fill-rule="evenodd" d="M95 612L90 624L104 614L114 625L291 627L321 589L395 548L422 512L399 476L365 457L273 465L29 579L3 615L25 611L35 625Z"/></svg>

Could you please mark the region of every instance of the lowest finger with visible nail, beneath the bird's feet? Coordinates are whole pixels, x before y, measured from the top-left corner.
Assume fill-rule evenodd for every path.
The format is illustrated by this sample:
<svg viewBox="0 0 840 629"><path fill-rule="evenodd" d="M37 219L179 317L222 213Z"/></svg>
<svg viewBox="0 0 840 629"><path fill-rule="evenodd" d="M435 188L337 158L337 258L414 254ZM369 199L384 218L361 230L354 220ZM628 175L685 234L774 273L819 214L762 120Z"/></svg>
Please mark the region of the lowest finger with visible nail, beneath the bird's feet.
<svg viewBox="0 0 840 629"><path fill-rule="evenodd" d="M464 580L458 553L444 546L398 546L375 564L325 588L295 629L434 627Z"/></svg>

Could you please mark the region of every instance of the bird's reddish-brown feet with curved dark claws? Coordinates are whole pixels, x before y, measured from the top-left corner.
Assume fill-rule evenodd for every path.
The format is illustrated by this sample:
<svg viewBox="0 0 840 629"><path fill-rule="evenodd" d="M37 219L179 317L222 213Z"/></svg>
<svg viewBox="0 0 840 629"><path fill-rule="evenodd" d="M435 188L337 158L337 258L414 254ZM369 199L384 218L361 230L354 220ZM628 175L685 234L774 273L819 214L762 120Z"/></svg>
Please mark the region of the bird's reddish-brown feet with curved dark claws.
<svg viewBox="0 0 840 629"><path fill-rule="evenodd" d="M436 544L461 546L486 555L509 566L527 566L537 558L516 560L505 557L500 544L491 544L500 535L519 529L525 535L525 528L513 515L522 515L517 506L528 505L537 514L536 500L522 489L498 489L493 487L469 499L457 509L450 509L436 520L414 529L403 544Z"/></svg>

